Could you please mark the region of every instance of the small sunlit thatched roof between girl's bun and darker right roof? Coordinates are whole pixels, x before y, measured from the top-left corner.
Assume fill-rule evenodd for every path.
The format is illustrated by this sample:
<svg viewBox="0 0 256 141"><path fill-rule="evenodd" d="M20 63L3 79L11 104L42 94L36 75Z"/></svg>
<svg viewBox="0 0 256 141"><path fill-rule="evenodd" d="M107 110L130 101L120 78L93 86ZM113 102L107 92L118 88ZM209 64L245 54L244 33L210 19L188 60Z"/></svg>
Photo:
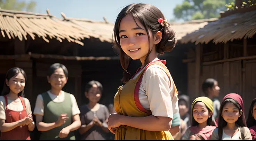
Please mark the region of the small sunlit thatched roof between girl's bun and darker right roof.
<svg viewBox="0 0 256 141"><path fill-rule="evenodd" d="M171 28L173 28L177 34L177 40L181 40L185 35L192 33L195 30L199 30L207 25L209 22L218 20L218 18L211 19L198 19L190 20L183 23L170 23Z"/></svg>

